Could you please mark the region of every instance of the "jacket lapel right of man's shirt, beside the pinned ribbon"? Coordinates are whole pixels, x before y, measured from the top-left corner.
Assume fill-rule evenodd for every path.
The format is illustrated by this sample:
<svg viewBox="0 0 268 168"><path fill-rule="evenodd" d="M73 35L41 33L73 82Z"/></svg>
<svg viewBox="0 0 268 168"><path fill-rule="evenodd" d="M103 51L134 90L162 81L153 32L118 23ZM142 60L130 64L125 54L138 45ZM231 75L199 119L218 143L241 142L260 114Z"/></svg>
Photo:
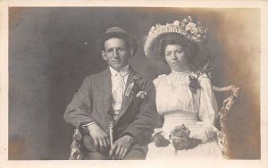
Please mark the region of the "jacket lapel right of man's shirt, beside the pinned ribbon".
<svg viewBox="0 0 268 168"><path fill-rule="evenodd" d="M120 114L119 114L119 117L118 117L118 119L117 119L116 122L118 122L119 119L121 118L121 115L122 115L123 113L126 112L126 110L128 109L128 107L129 107L131 101L132 101L133 98L135 97L135 96L133 96L131 93L130 93L129 97L127 97L127 96L125 95L125 92L126 92L126 90L128 89L128 87L130 86L130 83L133 82L133 76L134 76L134 75L135 75L135 72L134 72L134 71L131 69L131 67L130 67L130 69L129 69L129 77L128 77L128 80L127 80L127 83L126 83L126 88L125 88L125 90L124 90L124 94L123 94L123 97L122 97Z"/></svg>

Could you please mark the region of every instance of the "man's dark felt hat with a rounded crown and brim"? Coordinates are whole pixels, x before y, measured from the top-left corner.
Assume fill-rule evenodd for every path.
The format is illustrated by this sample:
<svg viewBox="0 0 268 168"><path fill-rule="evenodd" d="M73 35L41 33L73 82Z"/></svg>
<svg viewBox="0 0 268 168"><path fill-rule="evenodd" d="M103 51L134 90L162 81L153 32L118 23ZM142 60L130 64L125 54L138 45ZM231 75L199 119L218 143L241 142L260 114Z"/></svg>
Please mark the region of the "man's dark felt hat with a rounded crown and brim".
<svg viewBox="0 0 268 168"><path fill-rule="evenodd" d="M96 50L101 52L104 50L105 41L109 38L122 38L126 40L130 46L133 48L133 55L136 54L138 49L138 44L135 38L130 36L130 34L119 27L112 27L105 31L105 34L101 35L100 38L96 41Z"/></svg>

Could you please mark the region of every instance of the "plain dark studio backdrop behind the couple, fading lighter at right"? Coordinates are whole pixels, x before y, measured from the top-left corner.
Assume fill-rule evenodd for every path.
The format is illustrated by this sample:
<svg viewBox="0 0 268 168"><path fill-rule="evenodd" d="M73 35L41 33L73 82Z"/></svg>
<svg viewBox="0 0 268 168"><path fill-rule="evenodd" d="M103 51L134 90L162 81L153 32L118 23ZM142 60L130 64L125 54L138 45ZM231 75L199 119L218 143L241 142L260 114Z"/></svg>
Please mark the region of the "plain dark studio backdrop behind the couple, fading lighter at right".
<svg viewBox="0 0 268 168"><path fill-rule="evenodd" d="M147 59L143 40L156 23L191 15L209 29L213 83L242 89L228 120L230 157L260 158L260 11L257 9L9 8L9 159L68 159L71 126L63 113L82 80L105 69L94 49L112 26L138 40L132 67L154 79L170 70ZM228 94L217 94L219 106Z"/></svg>

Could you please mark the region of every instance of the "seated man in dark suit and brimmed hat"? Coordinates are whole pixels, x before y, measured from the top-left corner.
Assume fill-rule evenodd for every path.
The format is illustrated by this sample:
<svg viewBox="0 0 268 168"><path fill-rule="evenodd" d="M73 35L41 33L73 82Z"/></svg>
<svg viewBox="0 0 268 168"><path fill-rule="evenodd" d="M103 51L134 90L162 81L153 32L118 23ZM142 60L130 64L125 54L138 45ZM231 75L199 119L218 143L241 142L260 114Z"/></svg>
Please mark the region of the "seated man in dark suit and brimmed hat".
<svg viewBox="0 0 268 168"><path fill-rule="evenodd" d="M113 27L97 46L109 67L83 80L64 120L83 134L84 159L145 159L155 128L155 89L129 65L137 42Z"/></svg>

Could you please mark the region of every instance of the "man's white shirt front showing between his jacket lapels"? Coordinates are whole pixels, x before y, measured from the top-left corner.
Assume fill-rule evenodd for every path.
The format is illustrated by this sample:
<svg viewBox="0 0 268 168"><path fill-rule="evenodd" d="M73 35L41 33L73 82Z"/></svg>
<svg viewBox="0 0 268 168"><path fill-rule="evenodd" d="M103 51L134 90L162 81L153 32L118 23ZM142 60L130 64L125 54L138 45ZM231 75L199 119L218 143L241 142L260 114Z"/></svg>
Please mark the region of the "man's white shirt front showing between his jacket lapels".
<svg viewBox="0 0 268 168"><path fill-rule="evenodd" d="M115 71L112 67L109 68L112 80L113 121L115 121L120 114L122 97L129 77L129 64L121 68L120 71Z"/></svg>

